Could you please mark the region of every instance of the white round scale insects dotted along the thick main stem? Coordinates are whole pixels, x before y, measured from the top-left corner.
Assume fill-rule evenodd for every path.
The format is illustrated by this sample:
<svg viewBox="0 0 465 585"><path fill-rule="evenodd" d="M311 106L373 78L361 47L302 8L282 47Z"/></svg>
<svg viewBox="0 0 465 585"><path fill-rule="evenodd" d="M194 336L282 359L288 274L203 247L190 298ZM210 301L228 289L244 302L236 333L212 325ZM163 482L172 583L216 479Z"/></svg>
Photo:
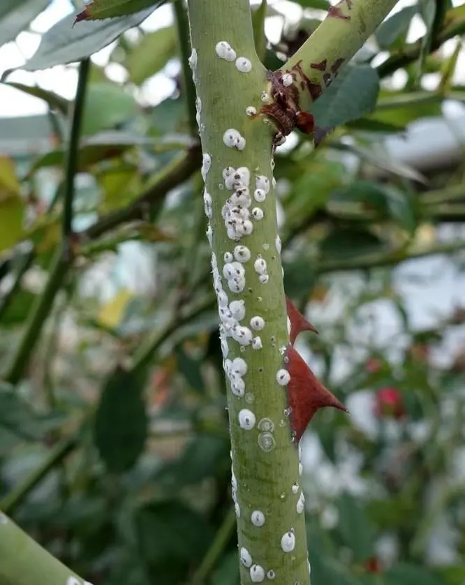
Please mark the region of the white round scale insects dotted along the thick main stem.
<svg viewBox="0 0 465 585"><path fill-rule="evenodd" d="M242 73L249 73L251 71L251 62L245 57L237 57L236 52L229 43L226 41L220 41L215 47L216 54L221 59L226 61L235 61L237 70ZM193 79L195 81L195 66L197 63L197 55L195 50L190 59L191 67L193 70ZM283 83L286 84L287 80L283 79ZM291 82L291 80L290 80ZM262 96L265 99L268 96ZM197 111L197 122L199 130L202 130L202 124L200 121L200 113L202 111L202 103L200 98L197 99L196 103ZM253 117L256 114L256 108L249 106L246 108L246 114L249 117ZM239 151L244 150L246 147L245 138L234 128L229 128L223 134L223 143L226 147L235 148ZM203 155L202 159L202 178L205 182L204 191L204 205L205 214L210 220L213 217L213 202L212 197L207 191L207 174L211 167L211 156L207 153ZM214 288L216 291L216 297L218 300L219 317L221 320L220 325L220 339L221 339L221 351L223 353L223 367L226 372L226 376L230 383L230 390L232 394L238 399L246 397L246 374L248 366L244 358L235 357L230 360L228 355L230 353L229 341L233 341L239 344L240 350L244 351L246 346L252 346L254 350L260 350L263 348L263 342L259 335L263 329L265 329L266 323L263 317L256 315L251 316L248 320L246 319L246 304L244 299L240 299L237 295L240 295L244 291L246 286L246 269L245 265L247 262L251 262L251 251L244 245L239 244L239 240L242 237L246 237L252 234L254 223L260 221L264 217L263 208L260 207L270 193L270 179L264 175L258 175L255 177L255 184L251 187L251 172L246 167L227 167L223 169L223 185L220 185L221 190L226 188L227 191L232 191L228 196L226 202L221 209L221 216L225 222L226 232L228 238L234 242L234 245L224 254L223 257L223 268L220 273L218 261L215 253L212 253L212 273L214 279ZM273 179L274 182L274 179ZM253 192L251 192L253 190ZM213 230L212 225L209 223L207 229L207 237L209 244L213 244ZM276 236L275 241L276 251L281 253L281 239L279 235ZM261 284L266 284L270 275L267 270L267 262L265 258L258 255L253 260L253 271L258 276L258 281ZM227 289L223 288L223 281L226 281ZM230 295L235 295L233 299L230 299ZM247 324L245 324L247 323ZM290 328L290 322L288 319L288 329ZM279 385L285 386L290 380L290 374L287 369L280 369L276 372L276 382ZM274 448L275 441L272 431L274 430L274 424L272 420L264 418L258 423L256 422L256 415L249 410L249 408L242 408L238 414L239 427L245 431L249 431L255 427L258 428L260 434L258 435L258 444L264 451L270 451ZM299 447L299 460L300 460L300 447ZM302 475L302 463L299 464L299 474ZM237 517L241 516L241 508L237 497L237 478L233 469L231 468L231 491L232 500L235 505L235 512ZM297 497L296 501L296 512L301 514L304 510L304 494L299 487L298 482L293 482L291 488L293 496ZM285 496L285 494L282 494ZM253 510L250 514L250 521L256 528L261 528L266 523L266 517L264 512L261 510ZM290 553L295 549L295 533L293 528L281 535L280 539L281 550L284 553ZM265 577L273 580L276 578L276 572L273 569L265 570L260 564L253 563L253 558L246 548L240 549L240 560L244 567L249 569L251 582L258 583L262 582ZM310 570L310 565L309 565Z"/></svg>

